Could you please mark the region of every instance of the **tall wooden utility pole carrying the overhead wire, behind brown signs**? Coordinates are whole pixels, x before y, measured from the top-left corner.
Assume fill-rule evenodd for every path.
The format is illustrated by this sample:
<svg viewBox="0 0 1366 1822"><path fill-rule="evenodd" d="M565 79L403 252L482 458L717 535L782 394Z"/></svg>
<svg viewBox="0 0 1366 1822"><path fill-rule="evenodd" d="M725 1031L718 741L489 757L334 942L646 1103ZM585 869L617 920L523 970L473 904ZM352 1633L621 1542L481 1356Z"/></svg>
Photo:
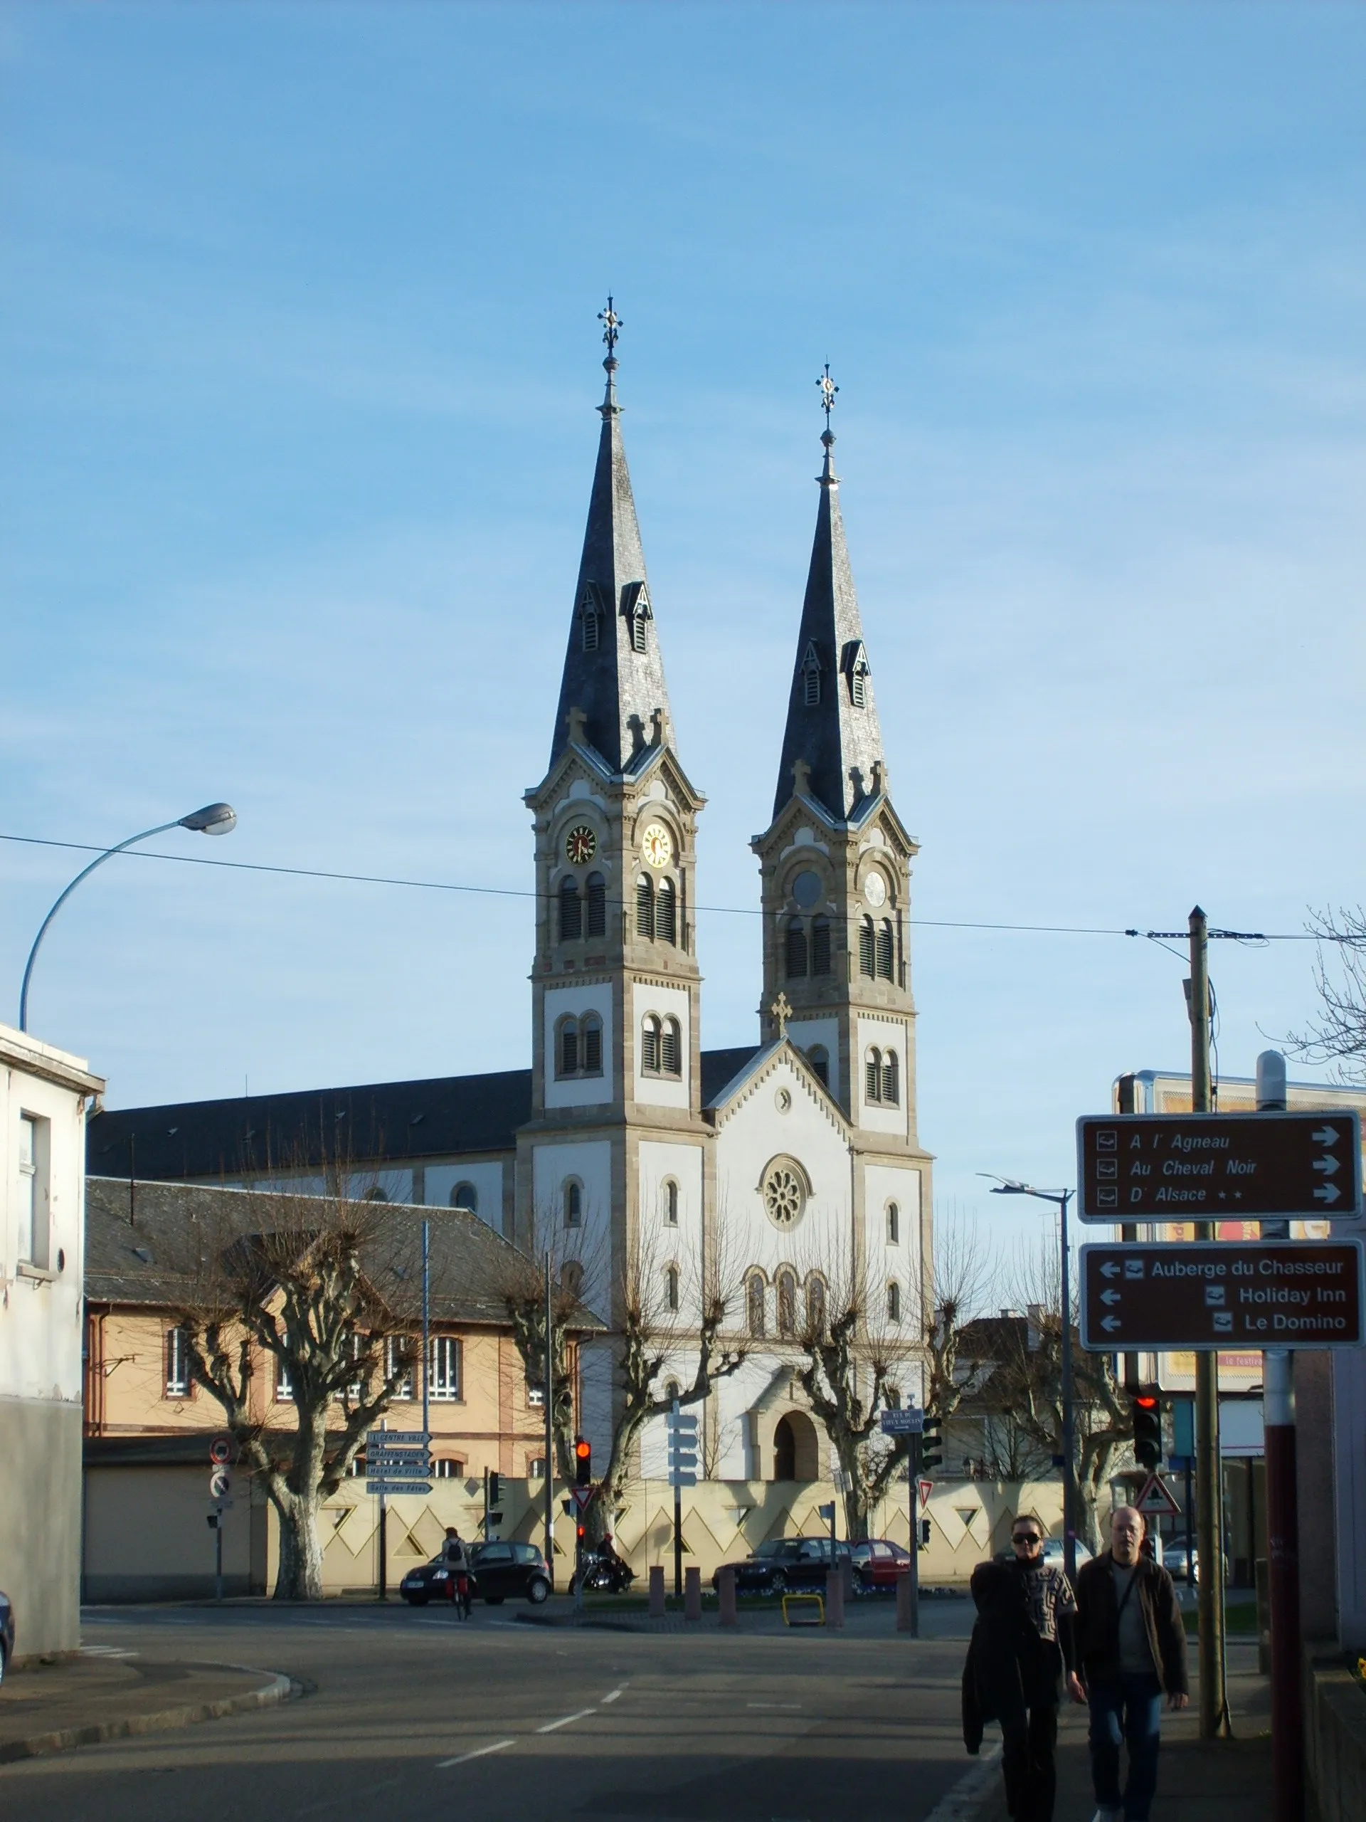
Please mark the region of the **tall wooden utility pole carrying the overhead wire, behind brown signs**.
<svg viewBox="0 0 1366 1822"><path fill-rule="evenodd" d="M1209 920L1197 906L1191 933L1191 1111L1213 1113L1209 1082ZM1197 1221L1197 1241L1218 1239L1213 1221ZM1233 1729L1224 1687L1224 1463L1218 1450L1218 1354L1195 1356L1195 1472L1200 1549L1200 1738L1228 1740ZM1188 1514L1189 1523L1189 1514Z"/></svg>

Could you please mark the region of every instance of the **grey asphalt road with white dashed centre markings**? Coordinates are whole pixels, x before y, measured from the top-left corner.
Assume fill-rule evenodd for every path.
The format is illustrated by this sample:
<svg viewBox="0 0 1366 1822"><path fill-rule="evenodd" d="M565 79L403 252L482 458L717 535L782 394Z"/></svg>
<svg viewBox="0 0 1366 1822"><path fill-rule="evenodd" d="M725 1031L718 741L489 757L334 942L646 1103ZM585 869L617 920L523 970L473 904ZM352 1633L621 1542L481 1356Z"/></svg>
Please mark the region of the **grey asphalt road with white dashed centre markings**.
<svg viewBox="0 0 1366 1822"><path fill-rule="evenodd" d="M945 1603L965 1609L967 1603ZM153 1663L284 1671L306 1694L178 1733L0 1767L5 1822L923 1822L974 1764L958 1735L967 1612L907 1640L889 1612L845 1634L603 1633L525 1625L512 1603L131 1609L86 1642Z"/></svg>

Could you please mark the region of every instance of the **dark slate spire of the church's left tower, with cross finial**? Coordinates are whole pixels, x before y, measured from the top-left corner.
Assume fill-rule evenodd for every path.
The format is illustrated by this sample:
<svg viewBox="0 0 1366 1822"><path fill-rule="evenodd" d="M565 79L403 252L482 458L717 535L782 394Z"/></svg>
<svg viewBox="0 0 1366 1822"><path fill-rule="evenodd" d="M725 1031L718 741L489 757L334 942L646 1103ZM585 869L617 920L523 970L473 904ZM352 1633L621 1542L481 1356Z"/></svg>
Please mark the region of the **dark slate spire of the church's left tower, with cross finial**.
<svg viewBox="0 0 1366 1822"><path fill-rule="evenodd" d="M614 773L627 773L647 747L668 742L670 716L636 499L621 443L616 390L621 319L610 297L599 321L607 343L607 394L597 406L603 430L550 763L568 745L574 716L574 738L594 747ZM576 711L581 712L581 722Z"/></svg>

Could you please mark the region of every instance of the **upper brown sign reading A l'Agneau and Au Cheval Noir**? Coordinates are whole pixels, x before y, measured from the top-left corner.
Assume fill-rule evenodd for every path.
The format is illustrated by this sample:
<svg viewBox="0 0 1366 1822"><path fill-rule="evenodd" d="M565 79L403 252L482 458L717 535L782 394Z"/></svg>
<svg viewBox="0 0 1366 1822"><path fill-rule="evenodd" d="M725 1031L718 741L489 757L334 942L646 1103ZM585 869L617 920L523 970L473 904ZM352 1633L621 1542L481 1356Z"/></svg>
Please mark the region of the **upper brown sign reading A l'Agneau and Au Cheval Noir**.
<svg viewBox="0 0 1366 1822"><path fill-rule="evenodd" d="M1076 1122L1082 1221L1361 1215L1355 1113L1087 1113Z"/></svg>

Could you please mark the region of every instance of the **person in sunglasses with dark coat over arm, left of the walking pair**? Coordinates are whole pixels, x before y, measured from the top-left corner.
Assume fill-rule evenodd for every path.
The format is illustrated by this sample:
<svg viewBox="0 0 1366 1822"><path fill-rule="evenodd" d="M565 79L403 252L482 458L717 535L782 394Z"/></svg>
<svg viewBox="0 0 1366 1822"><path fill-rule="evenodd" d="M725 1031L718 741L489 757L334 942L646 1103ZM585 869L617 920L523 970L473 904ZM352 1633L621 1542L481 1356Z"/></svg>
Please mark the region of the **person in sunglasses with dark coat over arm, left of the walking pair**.
<svg viewBox="0 0 1366 1822"><path fill-rule="evenodd" d="M963 1671L963 1733L976 1751L984 1720L1002 1727L1005 1807L1014 1822L1053 1822L1060 1678L1082 1702L1073 1649L1076 1603L1062 1569L1044 1561L1044 1527L1011 1525L1013 1560L973 1571L978 1620Z"/></svg>

